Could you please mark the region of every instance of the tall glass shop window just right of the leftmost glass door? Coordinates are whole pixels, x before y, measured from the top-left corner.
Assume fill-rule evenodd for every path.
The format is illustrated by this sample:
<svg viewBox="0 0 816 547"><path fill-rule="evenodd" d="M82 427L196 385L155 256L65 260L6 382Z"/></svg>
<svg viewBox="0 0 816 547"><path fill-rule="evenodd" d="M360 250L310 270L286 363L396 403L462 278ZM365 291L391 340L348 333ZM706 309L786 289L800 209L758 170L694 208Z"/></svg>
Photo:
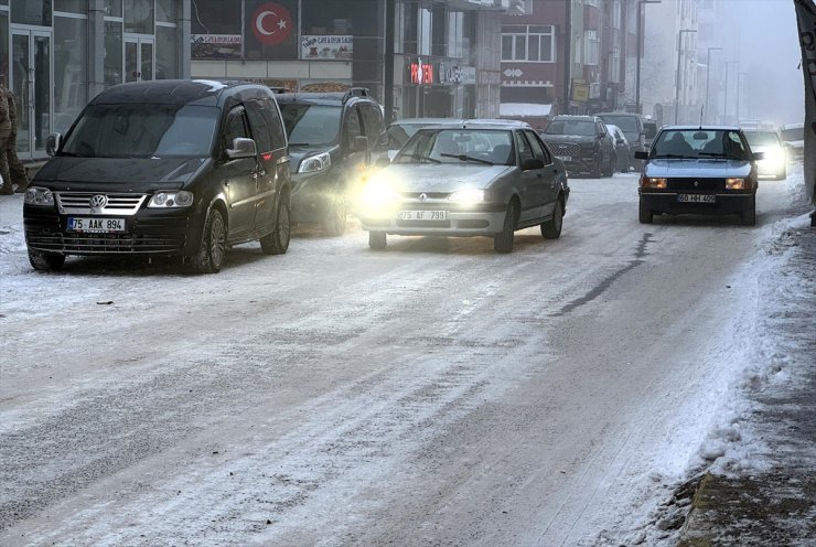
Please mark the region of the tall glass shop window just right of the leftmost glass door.
<svg viewBox="0 0 816 547"><path fill-rule="evenodd" d="M54 130L64 133L88 101L88 22L54 18Z"/></svg>

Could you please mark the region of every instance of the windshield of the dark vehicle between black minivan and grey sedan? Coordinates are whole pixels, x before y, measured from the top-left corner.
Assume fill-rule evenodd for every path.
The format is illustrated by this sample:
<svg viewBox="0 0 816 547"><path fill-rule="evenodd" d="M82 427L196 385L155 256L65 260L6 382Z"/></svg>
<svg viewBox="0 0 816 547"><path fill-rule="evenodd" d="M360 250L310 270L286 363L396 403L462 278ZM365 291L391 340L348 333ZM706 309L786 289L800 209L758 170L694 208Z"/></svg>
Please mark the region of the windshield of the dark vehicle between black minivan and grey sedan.
<svg viewBox="0 0 816 547"><path fill-rule="evenodd" d="M342 107L297 103L281 103L279 106L290 144L331 144L337 140Z"/></svg>

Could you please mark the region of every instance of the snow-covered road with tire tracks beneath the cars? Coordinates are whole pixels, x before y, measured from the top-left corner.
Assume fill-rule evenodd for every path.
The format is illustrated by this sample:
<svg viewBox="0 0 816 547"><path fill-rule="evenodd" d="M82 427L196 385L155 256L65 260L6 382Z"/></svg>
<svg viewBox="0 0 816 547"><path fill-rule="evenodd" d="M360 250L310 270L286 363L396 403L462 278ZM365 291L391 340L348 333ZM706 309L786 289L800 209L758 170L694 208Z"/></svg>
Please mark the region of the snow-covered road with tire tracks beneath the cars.
<svg viewBox="0 0 816 547"><path fill-rule="evenodd" d="M761 227L570 185L561 238L511 255L350 223L204 277L36 274L3 196L0 544L672 545ZM758 224L791 201L762 181Z"/></svg>

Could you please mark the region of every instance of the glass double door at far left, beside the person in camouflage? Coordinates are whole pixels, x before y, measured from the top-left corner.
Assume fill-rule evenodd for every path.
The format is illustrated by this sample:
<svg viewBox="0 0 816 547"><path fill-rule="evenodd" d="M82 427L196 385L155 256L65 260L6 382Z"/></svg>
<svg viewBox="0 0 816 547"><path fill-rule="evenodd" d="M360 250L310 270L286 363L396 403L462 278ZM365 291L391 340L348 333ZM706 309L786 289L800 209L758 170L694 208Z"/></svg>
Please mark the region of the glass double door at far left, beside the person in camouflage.
<svg viewBox="0 0 816 547"><path fill-rule="evenodd" d="M17 101L21 160L45 155L51 133L51 31L11 29L9 83Z"/></svg>

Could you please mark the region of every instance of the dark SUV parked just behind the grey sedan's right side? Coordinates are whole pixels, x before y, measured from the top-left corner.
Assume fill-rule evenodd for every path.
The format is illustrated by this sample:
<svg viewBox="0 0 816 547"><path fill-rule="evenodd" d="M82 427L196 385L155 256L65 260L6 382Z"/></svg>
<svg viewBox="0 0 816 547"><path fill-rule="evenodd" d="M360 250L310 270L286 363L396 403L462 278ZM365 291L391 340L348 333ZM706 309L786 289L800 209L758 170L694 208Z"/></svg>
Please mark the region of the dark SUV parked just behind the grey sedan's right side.
<svg viewBox="0 0 816 547"><path fill-rule="evenodd" d="M615 170L615 144L597 116L556 116L541 139L570 173L588 173L598 179L612 176Z"/></svg>

